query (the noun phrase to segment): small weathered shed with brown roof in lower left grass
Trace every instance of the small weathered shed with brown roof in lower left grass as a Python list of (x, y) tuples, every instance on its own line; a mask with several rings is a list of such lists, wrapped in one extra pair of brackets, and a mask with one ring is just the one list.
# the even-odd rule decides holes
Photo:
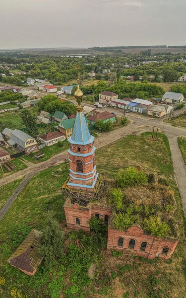
[(24, 241), (12, 253), (7, 262), (25, 274), (33, 276), (43, 260), (43, 256), (38, 253), (40, 239), (41, 232), (32, 229)]

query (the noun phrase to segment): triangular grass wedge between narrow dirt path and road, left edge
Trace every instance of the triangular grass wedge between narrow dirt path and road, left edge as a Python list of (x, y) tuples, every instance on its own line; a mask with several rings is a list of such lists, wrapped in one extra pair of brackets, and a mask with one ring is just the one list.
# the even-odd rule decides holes
[(23, 178), (17, 179), (0, 187), (0, 209), (4, 206), (22, 179)]

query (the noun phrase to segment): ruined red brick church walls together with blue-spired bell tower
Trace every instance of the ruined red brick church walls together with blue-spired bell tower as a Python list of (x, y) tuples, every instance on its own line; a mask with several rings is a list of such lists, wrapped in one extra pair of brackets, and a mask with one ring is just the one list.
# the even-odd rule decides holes
[(104, 177), (96, 170), (94, 137), (90, 135), (82, 111), (82, 91), (74, 94), (78, 106), (72, 136), (68, 139), (69, 177), (62, 186), (67, 193), (64, 211), (69, 229), (90, 230), (92, 217), (108, 224), (107, 249), (125, 251), (137, 256), (154, 259), (169, 259), (178, 240), (163, 239), (145, 233), (138, 224), (133, 224), (126, 231), (116, 229), (112, 222), (112, 207), (104, 198)]

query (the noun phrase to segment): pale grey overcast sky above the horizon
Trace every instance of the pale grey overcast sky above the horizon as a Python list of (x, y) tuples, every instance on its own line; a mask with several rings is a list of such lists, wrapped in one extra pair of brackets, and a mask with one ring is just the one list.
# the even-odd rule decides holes
[(186, 0), (0, 0), (0, 49), (186, 45)]

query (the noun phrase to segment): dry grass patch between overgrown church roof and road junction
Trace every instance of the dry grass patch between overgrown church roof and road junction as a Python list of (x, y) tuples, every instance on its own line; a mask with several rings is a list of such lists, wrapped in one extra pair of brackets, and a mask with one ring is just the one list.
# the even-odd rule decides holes
[(97, 150), (96, 163), (106, 175), (128, 166), (165, 175), (173, 173), (171, 151), (164, 134), (158, 134), (157, 140), (151, 138), (151, 133), (128, 135)]

